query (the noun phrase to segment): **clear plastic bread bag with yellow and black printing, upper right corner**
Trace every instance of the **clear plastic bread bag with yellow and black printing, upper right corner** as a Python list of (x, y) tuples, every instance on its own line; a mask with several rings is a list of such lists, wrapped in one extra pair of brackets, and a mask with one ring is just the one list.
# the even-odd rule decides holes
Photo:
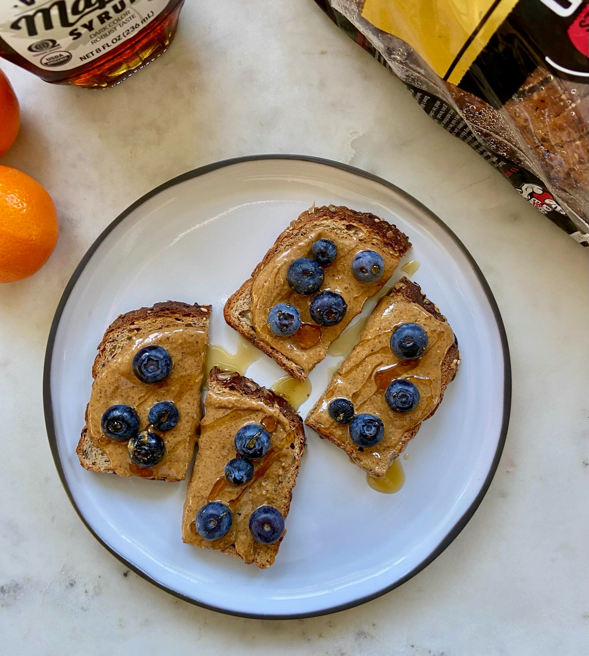
[(573, 239), (589, 246), (584, 0), (315, 0)]

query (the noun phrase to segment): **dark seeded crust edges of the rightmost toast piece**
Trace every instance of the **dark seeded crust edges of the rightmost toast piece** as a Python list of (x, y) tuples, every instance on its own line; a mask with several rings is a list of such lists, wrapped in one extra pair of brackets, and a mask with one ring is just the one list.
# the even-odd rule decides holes
[[(410, 303), (416, 303), (425, 310), (427, 310), (434, 318), (436, 318), (438, 321), (443, 321), (444, 323), (448, 323), (447, 319), (441, 312), (439, 311), (439, 308), (435, 303), (432, 303), (432, 301), (429, 298), (426, 298), (426, 295), (422, 293), (421, 287), (417, 284), (412, 282), (411, 280), (407, 279), (406, 277), (402, 277), (399, 282), (396, 283), (396, 285), (391, 289), (391, 291), (388, 294), (389, 296), (400, 296), (404, 300), (407, 300)], [(432, 415), (436, 412), (436, 410), (439, 408), (439, 404), (441, 403), (441, 400), (444, 396), (444, 391), (446, 389), (446, 386), (454, 380), (457, 371), (458, 371), (458, 364), (460, 364), (460, 353), (458, 352), (458, 344), (455, 342), (450, 346), (450, 348), (447, 350), (445, 357), (441, 363), (441, 391), (439, 394), (439, 402), (437, 403), (436, 407), (430, 412), (430, 414), (425, 417), (422, 421), (425, 421), (426, 419), (430, 419)], [(337, 375), (337, 372), (335, 373), (334, 377)], [(315, 408), (319, 406), (319, 403), (321, 403), (323, 397), (317, 401), (315, 404), (315, 407), (312, 409), (312, 411), (309, 413), (307, 419), (305, 419), (305, 424), (312, 428), (315, 432), (319, 434), (319, 436), (323, 438), (327, 438), (327, 440), (332, 441), (336, 446), (340, 447), (340, 449), (343, 449), (350, 457), (352, 455), (355, 455), (357, 457), (357, 452), (356, 449), (348, 443), (346, 440), (345, 442), (340, 442), (339, 440), (334, 440), (332, 436), (330, 436), (325, 428), (323, 426), (320, 426), (315, 422), (311, 415), (314, 413)], [(419, 422), (413, 428), (410, 428), (407, 430), (404, 434), (403, 437), (401, 438), (401, 441), (399, 443), (399, 453), (403, 452), (403, 449), (405, 449), (405, 446), (407, 446), (407, 443), (409, 441), (413, 440), (415, 438), (422, 422)], [(371, 474), (371, 476), (375, 476), (378, 478), (379, 476), (384, 476), (384, 474), (378, 474), (377, 472), (371, 470), (369, 467), (363, 469), (368, 473)], [(385, 472), (386, 473), (386, 472)]]

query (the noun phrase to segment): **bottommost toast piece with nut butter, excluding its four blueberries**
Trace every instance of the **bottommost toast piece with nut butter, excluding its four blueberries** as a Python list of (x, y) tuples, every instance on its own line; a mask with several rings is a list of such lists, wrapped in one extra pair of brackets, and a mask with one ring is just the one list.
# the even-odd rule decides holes
[[(208, 384), (198, 455), (184, 503), (182, 540), (237, 556), (260, 568), (270, 567), (283, 537), (274, 544), (254, 541), (249, 518), (262, 505), (274, 506), (286, 518), (305, 447), (302, 419), (288, 401), (238, 373), (213, 367)], [(236, 486), (226, 482), (224, 468), (237, 455), (235, 433), (252, 423), (268, 430), (270, 450), (253, 461), (253, 478)], [(224, 537), (209, 541), (197, 533), (195, 518), (211, 501), (231, 509), (232, 527)]]

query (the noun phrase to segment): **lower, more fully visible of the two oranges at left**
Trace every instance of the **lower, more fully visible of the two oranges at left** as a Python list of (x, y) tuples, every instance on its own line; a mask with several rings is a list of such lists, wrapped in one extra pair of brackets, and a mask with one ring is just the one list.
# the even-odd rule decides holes
[(51, 196), (26, 173), (0, 166), (0, 283), (38, 271), (53, 252), (58, 234)]

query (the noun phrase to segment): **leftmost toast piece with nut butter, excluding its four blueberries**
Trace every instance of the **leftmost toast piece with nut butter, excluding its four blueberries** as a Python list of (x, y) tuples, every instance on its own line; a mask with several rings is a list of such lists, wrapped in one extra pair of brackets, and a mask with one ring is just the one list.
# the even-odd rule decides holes
[[(186, 477), (202, 416), (201, 385), (210, 316), (210, 305), (169, 300), (121, 314), (113, 321), (92, 365), (92, 395), (76, 449), (83, 467), (165, 481)], [(132, 356), (146, 343), (161, 344), (172, 356), (172, 372), (161, 382), (146, 384), (132, 373)], [(127, 441), (112, 441), (102, 434), (100, 419), (108, 407), (131, 405), (140, 418), (139, 430), (144, 430), (149, 426), (148, 412), (153, 403), (170, 400), (178, 408), (179, 419), (174, 428), (159, 433), (165, 455), (157, 465), (137, 467), (129, 461)]]

